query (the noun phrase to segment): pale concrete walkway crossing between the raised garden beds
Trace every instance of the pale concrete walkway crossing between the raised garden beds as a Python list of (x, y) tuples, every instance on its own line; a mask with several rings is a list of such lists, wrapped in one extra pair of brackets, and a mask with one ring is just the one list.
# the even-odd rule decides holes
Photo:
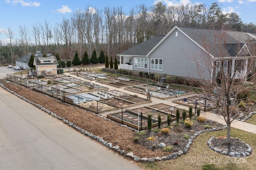
[[(69, 73), (64, 73), (64, 74), (69, 75)], [(70, 75), (70, 76), (76, 77), (76, 78), (81, 79), (81, 80), (84, 81), (84, 79), (82, 77), (77, 77), (76, 75)], [(89, 80), (86, 80), (86, 81), (89, 81)], [(94, 84), (102, 85), (104, 87), (108, 87), (109, 89), (115, 89), (115, 90), (118, 90), (118, 91), (122, 91), (124, 93), (129, 93), (131, 95), (138, 95), (138, 97), (142, 97), (142, 98), (146, 99), (146, 95), (140, 94), (140, 93), (135, 93), (133, 91), (125, 90), (124, 87), (120, 87), (120, 88), (113, 87), (113, 86), (110, 86), (110, 85), (106, 85), (106, 84), (103, 84), (103, 83), (96, 82), (96, 80), (92, 80), (91, 82), (94, 83)], [(194, 95), (196, 95), (196, 94), (186, 95), (186, 97), (191, 97), (191, 96), (194, 96)], [(155, 98), (154, 96), (152, 96), (151, 97), (152, 103), (148, 103), (147, 105), (155, 105), (155, 104), (158, 104), (158, 103), (163, 103), (163, 104), (166, 104), (166, 105), (178, 107), (179, 109), (186, 109), (188, 111), (187, 106), (179, 105), (177, 103), (172, 102), (173, 100), (182, 99), (184, 97), (185, 96), (174, 97), (174, 98), (171, 98), (171, 99), (162, 100), (162, 99), (158, 99), (158, 98)], [(194, 109), (193, 109), (193, 113), (194, 113)], [(201, 111), (200, 115), (205, 117), (206, 119), (213, 120), (213, 121), (216, 121), (218, 123), (222, 123), (223, 125), (226, 125), (223, 117), (221, 117), (220, 115), (210, 113), (210, 112), (204, 112), (204, 111)], [(252, 132), (252, 133), (256, 134), (256, 125), (252, 125), (250, 123), (234, 120), (231, 123), (231, 127), (238, 128), (238, 129), (241, 129), (241, 130), (244, 130), (244, 131), (247, 131), (247, 132)]]

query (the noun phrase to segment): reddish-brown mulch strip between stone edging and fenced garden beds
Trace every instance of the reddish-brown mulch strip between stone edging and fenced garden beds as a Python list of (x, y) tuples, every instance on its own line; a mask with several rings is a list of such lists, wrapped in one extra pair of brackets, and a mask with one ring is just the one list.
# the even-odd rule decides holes
[[(148, 132), (146, 130), (147, 134), (140, 136), (140, 140), (138, 141), (140, 144), (138, 144), (133, 140), (134, 136), (137, 136), (136, 132), (131, 131), (128, 128), (121, 127), (118, 123), (102, 119), (78, 107), (66, 105), (56, 99), (34, 92), (31, 89), (26, 89), (25, 87), (12, 83), (3, 83), (11, 91), (14, 91), (34, 103), (42, 105), (44, 108), (49, 109), (68, 121), (71, 121), (78, 127), (87, 130), (96, 136), (102, 137), (105, 141), (111, 142), (113, 145), (120, 146), (120, 149), (124, 149), (127, 152), (133, 152), (134, 155), (139, 156), (140, 158), (168, 156), (170, 153), (164, 152), (162, 149), (158, 148), (158, 144), (160, 142), (166, 143), (167, 146), (174, 145), (174, 142), (178, 142), (174, 145), (174, 151), (180, 150), (184, 149), (187, 143), (187, 140), (184, 140), (183, 138), (184, 134), (191, 136), (195, 131), (204, 130), (205, 125), (209, 125), (211, 127), (222, 127), (222, 125), (212, 121), (206, 121), (205, 123), (196, 122), (192, 128), (185, 128), (184, 124), (180, 123), (179, 127), (173, 125), (172, 128), (170, 128), (171, 132), (167, 135), (161, 134), (160, 132)], [(156, 136), (156, 141), (150, 142), (147, 140), (148, 136)]]

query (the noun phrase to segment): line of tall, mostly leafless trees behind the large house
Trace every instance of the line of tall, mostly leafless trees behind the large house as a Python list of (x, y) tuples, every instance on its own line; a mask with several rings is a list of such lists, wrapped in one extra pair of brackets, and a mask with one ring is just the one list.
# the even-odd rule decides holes
[(243, 23), (236, 13), (224, 14), (217, 2), (209, 7), (191, 3), (166, 6), (158, 2), (150, 7), (140, 4), (128, 12), (122, 6), (103, 9), (86, 6), (55, 26), (47, 20), (33, 23), (31, 30), (26, 25), (19, 26), (15, 39), (12, 28), (7, 28), (5, 33), (10, 41), (6, 45), (0, 42), (0, 65), (14, 64), (18, 57), (34, 51), (53, 55), (58, 52), (65, 61), (72, 60), (76, 51), (80, 58), (84, 51), (92, 56), (94, 49), (116, 56), (153, 36), (166, 35), (177, 25), (256, 33), (254, 24)]

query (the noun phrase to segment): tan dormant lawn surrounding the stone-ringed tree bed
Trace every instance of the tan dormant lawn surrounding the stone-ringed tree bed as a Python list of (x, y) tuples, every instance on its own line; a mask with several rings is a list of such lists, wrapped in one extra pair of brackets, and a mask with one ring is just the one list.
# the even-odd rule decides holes
[(213, 150), (207, 147), (206, 142), (210, 137), (223, 136), (226, 135), (226, 132), (226, 130), (221, 130), (200, 134), (200, 136), (198, 136), (192, 143), (189, 152), (175, 160), (166, 160), (153, 163), (140, 162), (138, 165), (145, 170), (255, 170), (256, 155), (254, 154), (254, 150), (256, 148), (256, 134), (245, 132), (236, 128), (231, 129), (232, 137), (238, 137), (252, 147), (252, 155), (246, 158), (224, 156), (222, 154), (215, 153)]

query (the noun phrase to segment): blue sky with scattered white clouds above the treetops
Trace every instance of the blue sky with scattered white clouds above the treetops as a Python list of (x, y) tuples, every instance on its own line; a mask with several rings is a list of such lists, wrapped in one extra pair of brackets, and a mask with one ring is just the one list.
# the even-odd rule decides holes
[(27, 26), (31, 30), (36, 23), (49, 22), (52, 28), (63, 17), (70, 16), (78, 9), (87, 6), (103, 9), (104, 6), (122, 6), (125, 12), (139, 4), (150, 7), (162, 1), (166, 6), (187, 3), (203, 3), (209, 7), (218, 2), (222, 12), (239, 14), (243, 23), (256, 24), (256, 0), (0, 0), (0, 40), (9, 42), (4, 30), (10, 27), (14, 32), (14, 40), (19, 38), (19, 26)]

